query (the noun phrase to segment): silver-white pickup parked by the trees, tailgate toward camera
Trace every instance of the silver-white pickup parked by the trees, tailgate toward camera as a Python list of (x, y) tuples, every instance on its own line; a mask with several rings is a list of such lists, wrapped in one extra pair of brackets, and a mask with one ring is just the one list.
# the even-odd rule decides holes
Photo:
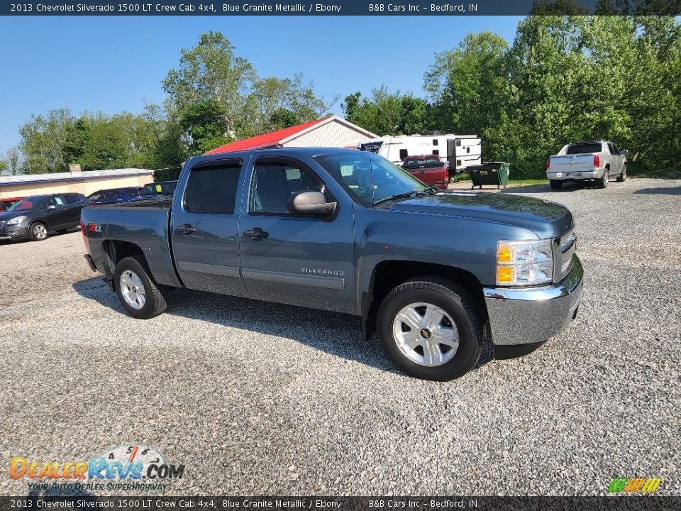
[(626, 153), (608, 141), (569, 143), (546, 160), (546, 177), (553, 189), (577, 181), (595, 181), (605, 188), (611, 177), (626, 180)]

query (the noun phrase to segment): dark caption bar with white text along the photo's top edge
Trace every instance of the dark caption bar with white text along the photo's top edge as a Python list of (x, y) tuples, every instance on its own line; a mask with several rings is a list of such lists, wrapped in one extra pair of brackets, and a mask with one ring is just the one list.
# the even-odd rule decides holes
[(615, 14), (677, 16), (681, 0), (26, 0), (2, 16), (526, 16)]

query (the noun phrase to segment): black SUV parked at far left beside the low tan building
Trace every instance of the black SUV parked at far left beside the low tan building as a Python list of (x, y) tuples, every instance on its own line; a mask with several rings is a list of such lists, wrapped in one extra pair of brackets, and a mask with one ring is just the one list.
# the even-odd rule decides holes
[(0, 241), (28, 238), (42, 241), (50, 231), (64, 233), (80, 223), (80, 210), (89, 204), (83, 194), (25, 197), (0, 213)]

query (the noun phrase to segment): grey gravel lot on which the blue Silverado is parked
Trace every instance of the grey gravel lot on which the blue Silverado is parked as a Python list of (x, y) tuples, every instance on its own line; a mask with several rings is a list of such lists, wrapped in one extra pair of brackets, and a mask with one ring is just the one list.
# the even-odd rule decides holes
[(177, 291), (132, 319), (78, 232), (0, 245), (0, 493), (26, 494), (11, 456), (143, 442), (187, 467), (169, 495), (599, 495), (633, 476), (681, 495), (681, 181), (509, 192), (575, 214), (580, 314), (450, 383), (393, 370), (342, 314)]

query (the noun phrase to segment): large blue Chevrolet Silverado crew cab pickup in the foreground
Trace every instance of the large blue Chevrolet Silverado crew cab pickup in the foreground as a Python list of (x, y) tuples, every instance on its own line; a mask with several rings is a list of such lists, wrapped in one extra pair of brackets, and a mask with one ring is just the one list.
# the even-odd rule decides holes
[(431, 380), (465, 374), (490, 335), (497, 358), (532, 351), (582, 293), (565, 207), (438, 192), (358, 150), (189, 158), (172, 199), (86, 207), (81, 229), (135, 318), (182, 287), (355, 314), (395, 366)]

